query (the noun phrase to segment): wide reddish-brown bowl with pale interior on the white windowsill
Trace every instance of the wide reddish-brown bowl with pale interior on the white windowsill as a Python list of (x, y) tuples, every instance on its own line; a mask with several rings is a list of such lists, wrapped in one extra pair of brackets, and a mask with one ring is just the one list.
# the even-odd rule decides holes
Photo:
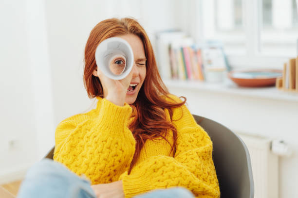
[(228, 73), (228, 77), (244, 87), (262, 87), (275, 85), (276, 78), (282, 77), (280, 69), (245, 69), (234, 70)]

